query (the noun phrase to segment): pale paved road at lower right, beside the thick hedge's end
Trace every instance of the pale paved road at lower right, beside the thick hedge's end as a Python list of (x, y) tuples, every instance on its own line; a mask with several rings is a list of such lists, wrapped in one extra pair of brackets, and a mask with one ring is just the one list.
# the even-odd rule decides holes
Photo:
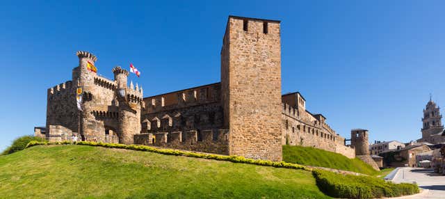
[(416, 182), (419, 187), (426, 189), (419, 196), (407, 198), (445, 198), (445, 176), (437, 175), (426, 168), (401, 168), (393, 182)]

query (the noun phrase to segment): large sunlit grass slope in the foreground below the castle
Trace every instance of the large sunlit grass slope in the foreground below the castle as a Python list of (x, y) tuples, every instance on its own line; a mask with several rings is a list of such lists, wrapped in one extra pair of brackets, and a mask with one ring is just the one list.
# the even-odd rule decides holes
[(329, 198), (305, 170), (81, 145), (0, 156), (1, 198)]

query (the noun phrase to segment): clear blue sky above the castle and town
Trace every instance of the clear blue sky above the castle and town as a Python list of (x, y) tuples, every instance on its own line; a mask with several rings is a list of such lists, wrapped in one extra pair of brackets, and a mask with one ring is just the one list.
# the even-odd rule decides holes
[[(0, 150), (44, 126), (47, 88), (77, 50), (99, 74), (132, 62), (145, 96), (220, 81), (228, 15), (282, 21), (282, 93), (300, 91), (342, 136), (421, 136), (429, 93), (445, 106), (445, 1), (0, 3)], [(444, 114), (444, 111), (441, 111)]]

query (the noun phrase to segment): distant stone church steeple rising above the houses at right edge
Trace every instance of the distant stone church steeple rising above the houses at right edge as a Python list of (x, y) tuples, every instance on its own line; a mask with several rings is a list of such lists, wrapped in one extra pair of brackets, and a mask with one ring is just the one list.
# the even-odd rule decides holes
[(444, 125), (442, 125), (440, 107), (431, 100), (431, 97), (430, 101), (426, 104), (426, 109), (423, 109), (422, 122), (422, 138), (417, 140), (418, 143), (445, 143), (445, 132)]

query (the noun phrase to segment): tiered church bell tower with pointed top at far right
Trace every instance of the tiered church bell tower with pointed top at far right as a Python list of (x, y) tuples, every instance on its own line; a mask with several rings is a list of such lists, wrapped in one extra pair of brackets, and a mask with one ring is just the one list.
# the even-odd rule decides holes
[[(426, 104), (426, 109), (423, 109), (423, 127), (422, 139), (424, 141), (429, 141), (428, 138), (434, 134), (439, 134), (444, 131), (444, 126), (442, 125), (442, 115), (440, 114), (440, 107), (437, 106), (435, 102), (431, 100)], [(430, 141), (432, 142), (432, 141)]]

